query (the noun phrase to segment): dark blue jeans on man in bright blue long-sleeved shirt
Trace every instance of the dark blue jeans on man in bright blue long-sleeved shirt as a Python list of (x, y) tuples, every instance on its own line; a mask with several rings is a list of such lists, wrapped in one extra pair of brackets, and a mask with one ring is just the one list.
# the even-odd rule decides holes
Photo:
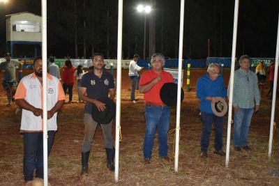
[(209, 139), (211, 133), (211, 125), (214, 123), (215, 139), (214, 147), (216, 150), (222, 150), (223, 148), (223, 127), (224, 127), (224, 116), (218, 117), (214, 114), (206, 113), (202, 111), (202, 138), (201, 138), (201, 150), (206, 153), (209, 148)]

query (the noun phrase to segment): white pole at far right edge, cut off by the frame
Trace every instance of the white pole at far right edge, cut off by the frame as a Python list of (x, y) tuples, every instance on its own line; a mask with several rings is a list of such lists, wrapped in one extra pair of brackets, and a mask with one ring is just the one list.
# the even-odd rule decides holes
[(276, 45), (276, 59), (275, 59), (275, 71), (273, 80), (273, 94), (272, 94), (272, 107), (271, 107), (271, 126), (269, 132), (269, 160), (271, 158), (272, 141), (273, 141), (273, 122), (274, 112), (276, 106), (276, 91), (277, 91), (277, 77), (278, 77), (278, 60), (279, 60), (279, 17), (278, 17), (278, 29), (277, 29), (277, 45)]

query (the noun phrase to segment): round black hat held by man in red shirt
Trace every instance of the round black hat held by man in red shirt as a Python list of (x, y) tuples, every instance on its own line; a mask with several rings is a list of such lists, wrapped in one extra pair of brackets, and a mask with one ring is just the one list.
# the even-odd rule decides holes
[[(167, 106), (175, 106), (177, 103), (177, 84), (165, 83), (160, 89), (160, 98)], [(184, 91), (181, 88), (181, 102), (184, 99)]]

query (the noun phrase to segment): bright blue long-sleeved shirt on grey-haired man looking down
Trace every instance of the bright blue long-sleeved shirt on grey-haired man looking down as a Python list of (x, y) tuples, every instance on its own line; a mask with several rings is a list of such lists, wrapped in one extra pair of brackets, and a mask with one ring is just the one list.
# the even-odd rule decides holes
[(197, 98), (199, 98), (199, 110), (213, 114), (211, 109), (211, 101), (206, 100), (206, 97), (222, 97), (226, 98), (227, 92), (222, 76), (217, 77), (214, 81), (206, 74), (197, 79)]

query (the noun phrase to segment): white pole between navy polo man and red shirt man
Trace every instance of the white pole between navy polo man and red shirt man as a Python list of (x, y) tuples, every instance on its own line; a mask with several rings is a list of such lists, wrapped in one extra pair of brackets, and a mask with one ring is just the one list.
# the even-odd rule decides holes
[(118, 4), (118, 36), (117, 36), (117, 77), (116, 77), (116, 127), (115, 127), (115, 171), (114, 179), (119, 180), (119, 131), (121, 114), (121, 59), (122, 59), (122, 18), (123, 0)]

